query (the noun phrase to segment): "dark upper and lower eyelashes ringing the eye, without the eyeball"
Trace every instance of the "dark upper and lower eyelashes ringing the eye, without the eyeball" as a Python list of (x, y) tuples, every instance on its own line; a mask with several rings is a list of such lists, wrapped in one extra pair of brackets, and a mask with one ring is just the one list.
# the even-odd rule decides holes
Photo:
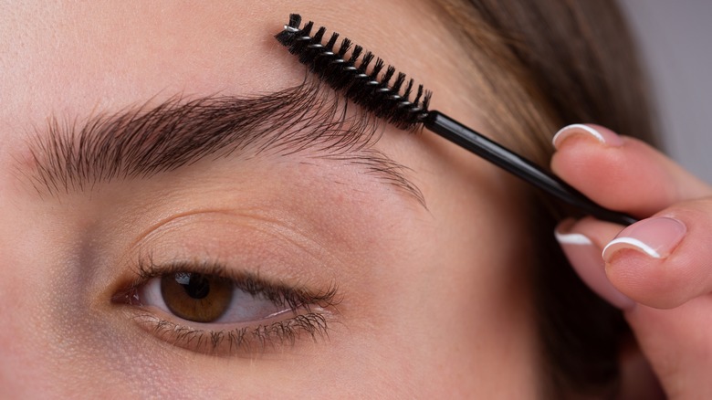
[[(330, 311), (336, 310), (340, 303), (335, 285), (324, 291), (295, 288), (281, 282), (261, 279), (254, 274), (236, 273), (217, 263), (178, 262), (158, 265), (148, 258), (140, 260), (135, 269), (138, 278), (128, 289), (122, 289), (114, 295), (112, 301), (133, 307), (134, 320), (156, 337), (198, 353), (263, 353), (267, 348), (275, 348), (278, 345), (292, 346), (305, 334), (313, 342), (319, 342), (329, 337), (327, 322), (330, 320)], [(261, 296), (277, 307), (285, 307), (291, 311), (292, 316), (286, 320), (266, 323), (267, 320), (250, 321), (246, 322), (249, 326), (214, 331), (190, 326), (197, 322), (185, 321), (177, 316), (172, 317), (181, 322), (170, 321), (148, 311), (144, 304), (141, 304), (141, 287), (150, 279), (179, 272), (231, 279), (235, 289), (244, 290), (252, 296)]]

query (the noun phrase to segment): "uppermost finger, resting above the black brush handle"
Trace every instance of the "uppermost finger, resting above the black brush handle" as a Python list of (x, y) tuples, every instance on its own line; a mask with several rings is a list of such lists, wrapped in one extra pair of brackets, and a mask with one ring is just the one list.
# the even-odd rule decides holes
[(551, 168), (605, 207), (635, 216), (686, 199), (712, 195), (709, 185), (633, 138), (597, 125), (570, 125), (553, 139)]

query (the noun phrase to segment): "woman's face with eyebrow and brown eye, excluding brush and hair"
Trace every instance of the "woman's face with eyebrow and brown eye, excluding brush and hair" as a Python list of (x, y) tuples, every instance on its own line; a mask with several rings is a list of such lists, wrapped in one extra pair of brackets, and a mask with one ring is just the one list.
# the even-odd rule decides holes
[[(332, 129), (297, 149), (323, 126), (257, 114), (275, 97), (256, 96), (304, 80), (273, 37), (298, 12), (477, 126), (471, 71), (433, 7), (0, 6), (4, 394), (535, 393), (509, 178), (429, 132), (380, 126), (338, 151), (354, 133)], [(200, 157), (202, 131), (218, 145)]]

